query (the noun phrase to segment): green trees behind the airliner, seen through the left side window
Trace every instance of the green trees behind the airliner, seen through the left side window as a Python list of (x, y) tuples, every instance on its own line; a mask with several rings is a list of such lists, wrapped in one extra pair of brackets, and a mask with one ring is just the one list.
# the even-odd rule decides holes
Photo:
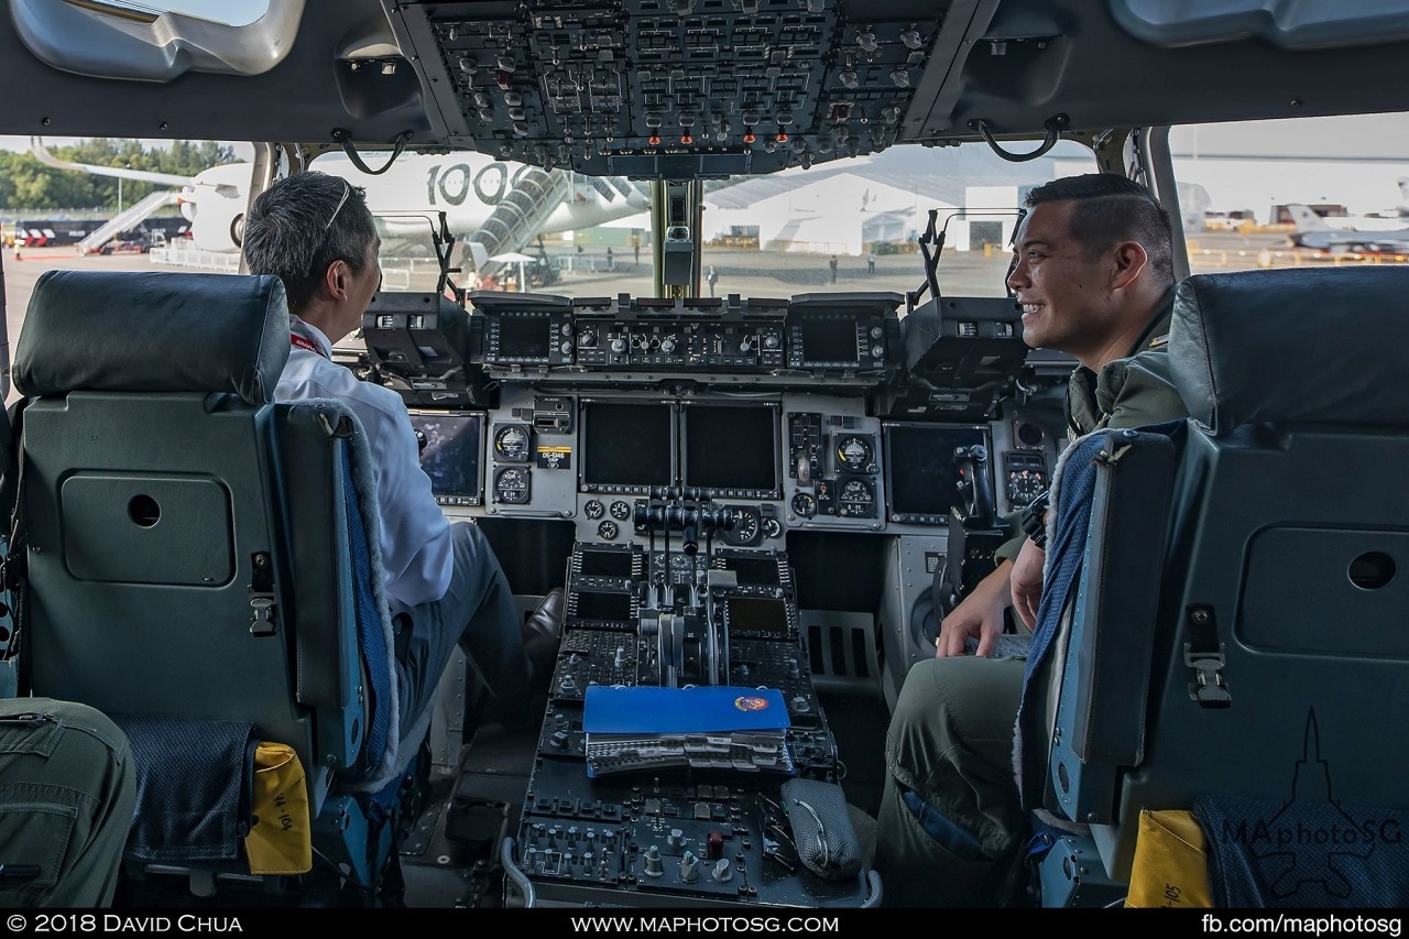
[[(235, 162), (232, 147), (216, 141), (175, 141), (170, 147), (142, 147), (137, 140), (99, 137), (72, 147), (51, 147), (59, 159), (100, 166), (194, 176), (218, 164)], [(131, 206), (159, 183), (121, 180), (123, 204)], [(45, 166), (34, 154), (0, 151), (0, 210), (4, 209), (101, 209), (116, 211), (118, 180), (72, 169)]]

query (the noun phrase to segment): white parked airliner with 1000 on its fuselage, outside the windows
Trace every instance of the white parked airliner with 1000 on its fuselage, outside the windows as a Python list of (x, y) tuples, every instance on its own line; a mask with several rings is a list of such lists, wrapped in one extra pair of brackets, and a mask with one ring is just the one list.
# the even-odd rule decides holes
[[(31, 138), (30, 149), (41, 162), (58, 169), (180, 186), (182, 213), (190, 221), (196, 247), (220, 252), (240, 250), (244, 211), (249, 199), (249, 164), (225, 164), (196, 176), (179, 176), (59, 159), (37, 137)], [(327, 154), (314, 168), (364, 186), (368, 206), (383, 219), (392, 234), (421, 235), (424, 221), (407, 219), (444, 211), (451, 234), (462, 241), (478, 233), (511, 199), (526, 176), (544, 175), (526, 164), (465, 152), (403, 152), (385, 172), (378, 166), (376, 175), (362, 172), (342, 154)], [(540, 234), (589, 228), (640, 214), (650, 207), (641, 188), (620, 178), (590, 185), (571, 172), (551, 171), (548, 182), (558, 199), (557, 207), (540, 226), (524, 230), (514, 243), (495, 244), (486, 254), (513, 251)], [(504, 214), (510, 221), (517, 220), (517, 213), (510, 209)]]

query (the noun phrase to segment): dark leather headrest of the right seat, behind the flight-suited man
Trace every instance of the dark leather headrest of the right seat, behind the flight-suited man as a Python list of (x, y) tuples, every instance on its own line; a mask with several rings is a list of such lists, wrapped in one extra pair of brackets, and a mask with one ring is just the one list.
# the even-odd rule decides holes
[(1248, 423), (1409, 424), (1409, 268), (1199, 274), (1179, 285), (1169, 368), (1209, 433)]

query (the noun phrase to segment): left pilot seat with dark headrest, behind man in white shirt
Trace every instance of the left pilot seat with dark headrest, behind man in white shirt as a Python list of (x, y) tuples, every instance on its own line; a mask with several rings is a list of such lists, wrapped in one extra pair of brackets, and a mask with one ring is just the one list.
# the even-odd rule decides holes
[[(20, 694), (132, 742), (120, 902), (161, 902), (163, 874), (223, 904), (399, 902), (424, 759), (397, 728), (366, 444), (338, 402), (273, 403), (287, 354), (273, 276), (54, 271), (28, 307), (11, 647)], [(304, 843), (256, 863), (273, 825)]]

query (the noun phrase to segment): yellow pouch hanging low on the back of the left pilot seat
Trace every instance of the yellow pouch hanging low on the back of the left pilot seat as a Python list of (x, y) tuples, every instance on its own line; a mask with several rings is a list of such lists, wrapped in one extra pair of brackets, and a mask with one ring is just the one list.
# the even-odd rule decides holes
[(285, 743), (255, 750), (254, 825), (245, 836), (251, 874), (304, 874), (313, 869), (313, 826), (303, 764)]

